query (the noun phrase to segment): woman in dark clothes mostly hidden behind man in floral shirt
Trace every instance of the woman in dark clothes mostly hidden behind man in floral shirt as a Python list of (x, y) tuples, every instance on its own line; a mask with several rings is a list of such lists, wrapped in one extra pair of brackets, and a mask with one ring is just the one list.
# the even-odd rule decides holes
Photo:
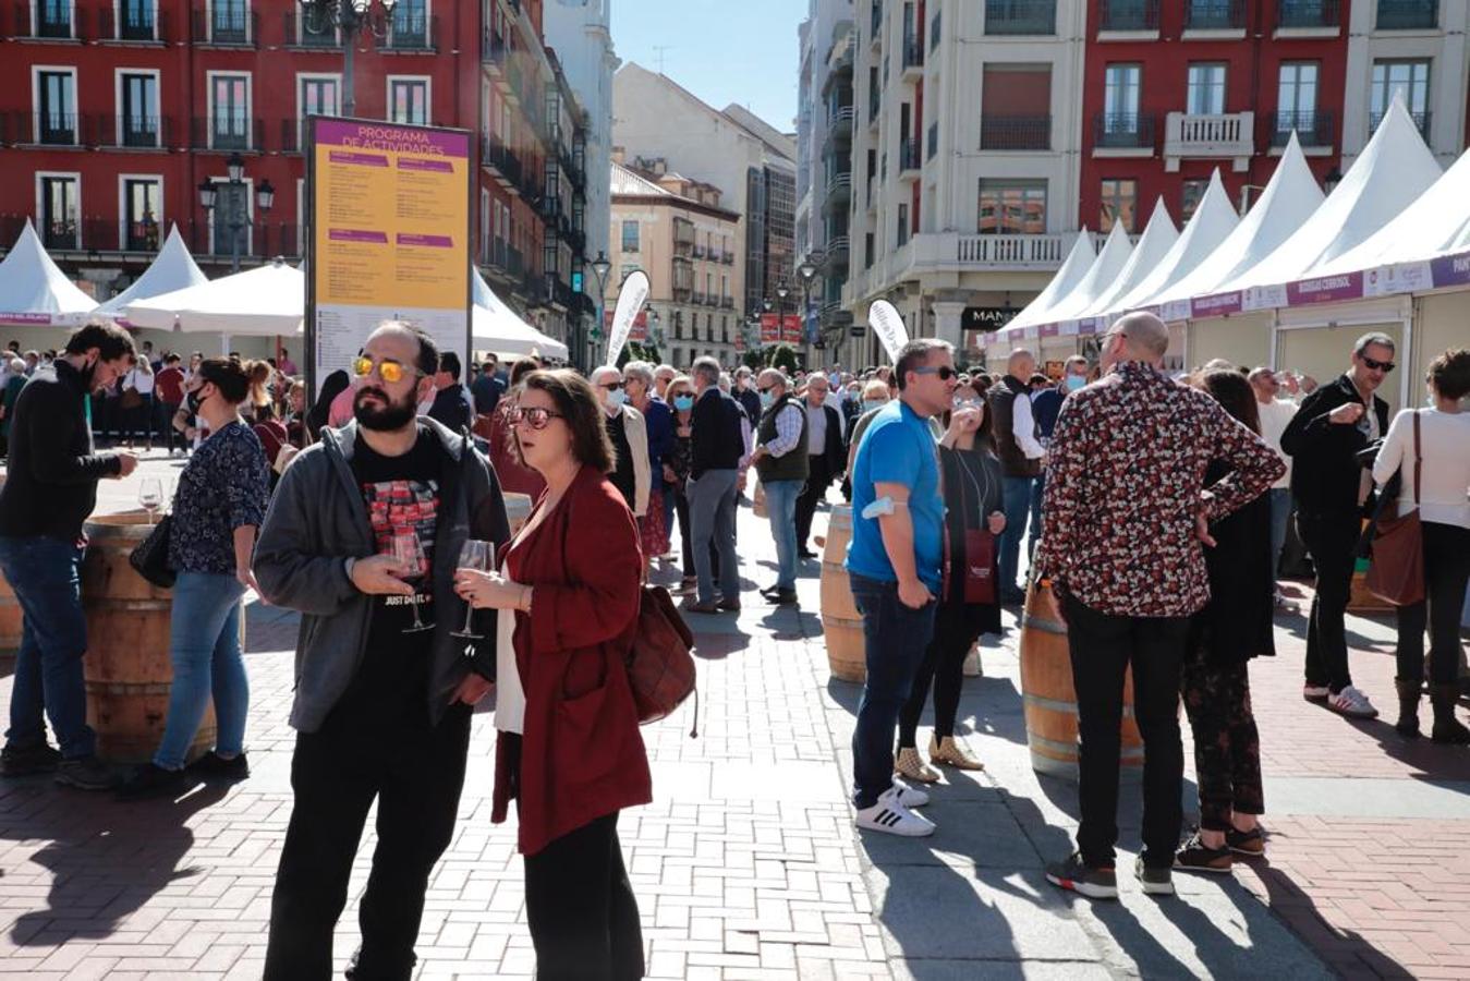
[[(1195, 384), (1225, 410), (1261, 431), (1251, 384), (1236, 371), (1210, 371)], [(1213, 463), (1205, 482), (1229, 472)], [(1229, 872), (1232, 853), (1261, 855), (1266, 838), (1257, 816), (1261, 793), (1261, 749), (1251, 713), (1251, 657), (1276, 653), (1272, 635), (1276, 577), (1272, 568), (1272, 506), (1261, 494), (1233, 515), (1210, 525), (1205, 547), (1210, 604), (1194, 615), (1182, 677), (1185, 712), (1194, 729), (1195, 777), (1200, 784), (1200, 830), (1175, 859), (1182, 869)]]

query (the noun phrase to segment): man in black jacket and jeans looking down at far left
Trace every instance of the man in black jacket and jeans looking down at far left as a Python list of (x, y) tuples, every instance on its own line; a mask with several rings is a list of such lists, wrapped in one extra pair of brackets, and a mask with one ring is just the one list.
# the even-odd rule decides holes
[[(0, 753), (6, 777), (56, 771), (56, 782), (82, 790), (116, 782), (97, 760), (97, 735), (87, 725), (87, 619), (78, 577), (82, 522), (97, 506), (97, 481), (126, 477), (138, 465), (131, 453), (93, 452), (85, 403), (125, 375), (132, 357), (126, 331), (91, 324), (72, 334), (66, 352), (15, 400), (10, 466), (0, 490), (0, 569), (21, 604), (25, 634)], [(46, 741), (43, 710), (60, 753)]]

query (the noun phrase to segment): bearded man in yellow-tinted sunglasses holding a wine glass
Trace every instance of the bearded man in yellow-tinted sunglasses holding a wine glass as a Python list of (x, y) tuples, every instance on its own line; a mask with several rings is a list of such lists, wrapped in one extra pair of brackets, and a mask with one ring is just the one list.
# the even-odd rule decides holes
[(378, 849), (353, 963), (359, 977), (407, 977), (428, 877), (454, 830), (470, 706), (495, 677), (492, 615), (466, 609), (454, 569), (492, 554), (509, 527), (485, 459), (416, 415), (438, 366), (423, 332), (373, 331), (350, 366), (354, 419), (293, 460), (260, 531), (262, 596), (303, 613), (295, 800), (266, 978), (332, 974), (332, 931), (373, 800)]

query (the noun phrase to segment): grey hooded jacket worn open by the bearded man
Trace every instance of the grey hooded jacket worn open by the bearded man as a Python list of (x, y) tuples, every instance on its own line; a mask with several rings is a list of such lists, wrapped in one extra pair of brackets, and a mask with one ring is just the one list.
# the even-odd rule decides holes
[[(454, 594), (454, 566), (466, 538), (500, 547), (509, 540), (506, 503), (500, 481), (466, 440), (434, 419), (420, 418), (442, 440), (451, 463), (440, 485), (441, 510), (434, 549), (434, 606), (438, 622), (432, 640), (429, 719), (435, 724), (448, 707), (466, 672), (494, 679), (495, 621), (492, 610), (475, 613), (473, 641), (450, 635), (463, 627), (463, 600)], [(254, 572), (268, 603), (301, 612), (295, 644), (295, 700), (291, 725), (315, 732), (347, 691), (368, 644), (372, 597), (347, 578), (344, 560), (376, 552), (368, 507), (351, 471), (357, 424), (322, 429), (322, 441), (291, 460), (270, 499)]]

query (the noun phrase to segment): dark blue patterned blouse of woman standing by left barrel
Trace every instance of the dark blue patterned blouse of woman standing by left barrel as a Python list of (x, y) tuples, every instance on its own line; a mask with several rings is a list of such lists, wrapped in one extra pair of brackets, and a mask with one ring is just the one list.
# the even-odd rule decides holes
[(169, 565), (178, 572), (235, 572), (235, 528), (260, 527), (270, 466), (260, 437), (244, 422), (225, 425), (188, 460), (173, 494)]

